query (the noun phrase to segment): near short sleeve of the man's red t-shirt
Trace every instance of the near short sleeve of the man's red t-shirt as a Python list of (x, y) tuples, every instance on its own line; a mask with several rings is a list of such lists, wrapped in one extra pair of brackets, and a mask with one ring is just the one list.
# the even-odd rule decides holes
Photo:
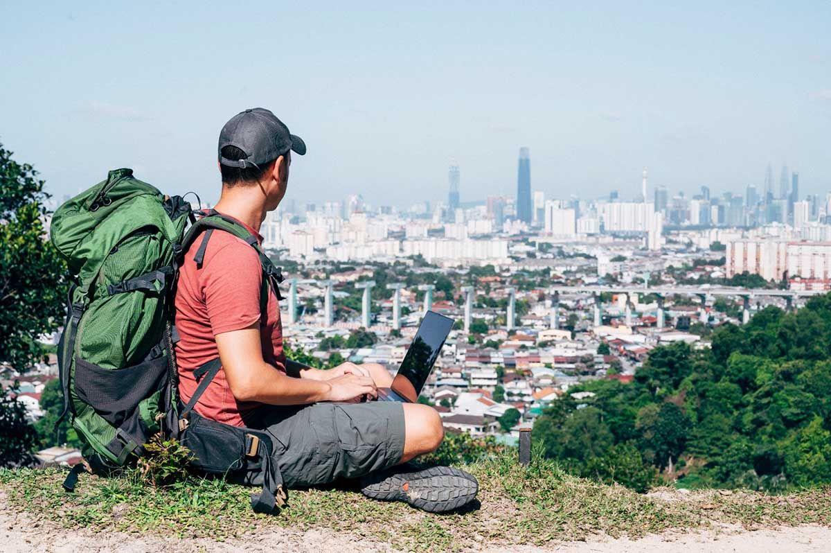
[(205, 255), (202, 287), (214, 336), (260, 320), (262, 284), (262, 266), (248, 244), (221, 244), (212, 256)]

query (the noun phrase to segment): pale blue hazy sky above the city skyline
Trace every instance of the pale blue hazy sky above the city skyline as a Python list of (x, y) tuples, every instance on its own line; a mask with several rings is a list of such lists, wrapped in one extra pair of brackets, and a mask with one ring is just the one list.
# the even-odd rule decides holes
[[(58, 198), (132, 167), (219, 197), (216, 141), (263, 106), (302, 136), (288, 197), (406, 207), (831, 191), (831, 3), (0, 3), (0, 143)], [(585, 6), (578, 6), (585, 4)]]

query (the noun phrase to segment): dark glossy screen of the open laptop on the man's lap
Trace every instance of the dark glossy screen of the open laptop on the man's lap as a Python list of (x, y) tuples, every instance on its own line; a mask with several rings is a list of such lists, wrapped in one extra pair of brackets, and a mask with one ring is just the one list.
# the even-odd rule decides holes
[(416, 402), (421, 388), (433, 370), (433, 363), (439, 357), (441, 347), (445, 345), (447, 335), (453, 328), (453, 319), (428, 311), (407, 350), (401, 367), (392, 380), (392, 391)]

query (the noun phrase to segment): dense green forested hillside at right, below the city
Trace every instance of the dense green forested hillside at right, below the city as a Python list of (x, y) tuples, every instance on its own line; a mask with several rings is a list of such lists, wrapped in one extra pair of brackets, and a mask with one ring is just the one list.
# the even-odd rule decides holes
[[(637, 490), (783, 491), (831, 482), (831, 294), (725, 324), (710, 348), (656, 348), (635, 381), (586, 383), (534, 426), (569, 470)], [(582, 397), (582, 394), (581, 394)]]

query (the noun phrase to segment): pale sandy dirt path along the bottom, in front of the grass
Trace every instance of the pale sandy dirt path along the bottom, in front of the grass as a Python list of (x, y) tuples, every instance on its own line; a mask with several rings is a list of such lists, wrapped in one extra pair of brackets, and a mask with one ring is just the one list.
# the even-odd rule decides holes
[[(227, 542), (178, 540), (165, 536), (138, 536), (90, 531), (67, 531), (32, 521), (21, 513), (9, 512), (0, 501), (0, 551), (3, 553), (347, 553), (349, 551), (392, 551), (390, 546), (355, 536), (327, 531), (297, 532), (273, 529)], [(701, 531), (665, 536), (647, 536), (637, 541), (602, 539), (551, 544), (545, 548), (519, 546), (487, 549), (489, 553), (819, 553), (831, 551), (831, 528), (800, 526), (776, 530)]]

